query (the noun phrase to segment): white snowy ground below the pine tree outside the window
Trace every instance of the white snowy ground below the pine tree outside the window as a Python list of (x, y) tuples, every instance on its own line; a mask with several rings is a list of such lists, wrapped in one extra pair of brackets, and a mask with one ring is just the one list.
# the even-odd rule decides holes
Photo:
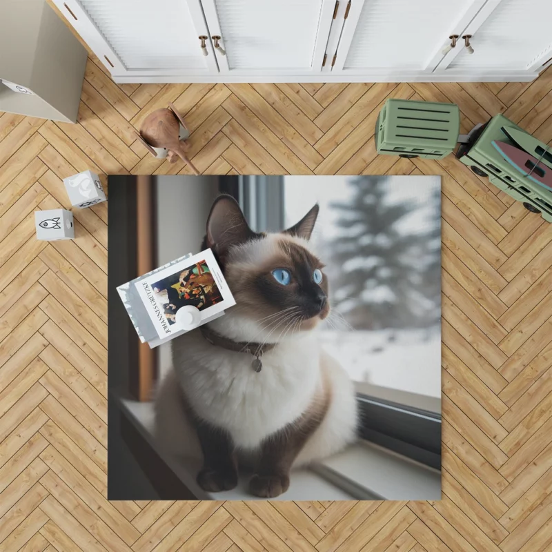
[[(389, 337), (395, 341), (389, 342)], [(423, 331), (333, 331), (324, 349), (357, 382), (441, 397), (441, 336)]]

